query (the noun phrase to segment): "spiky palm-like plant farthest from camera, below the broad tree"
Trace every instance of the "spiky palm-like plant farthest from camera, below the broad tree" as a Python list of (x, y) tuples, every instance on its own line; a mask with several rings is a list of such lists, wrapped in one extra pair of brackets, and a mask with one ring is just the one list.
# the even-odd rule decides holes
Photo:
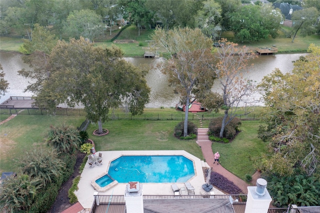
[(72, 153), (80, 144), (79, 132), (70, 126), (50, 126), (47, 144), (58, 153)]

